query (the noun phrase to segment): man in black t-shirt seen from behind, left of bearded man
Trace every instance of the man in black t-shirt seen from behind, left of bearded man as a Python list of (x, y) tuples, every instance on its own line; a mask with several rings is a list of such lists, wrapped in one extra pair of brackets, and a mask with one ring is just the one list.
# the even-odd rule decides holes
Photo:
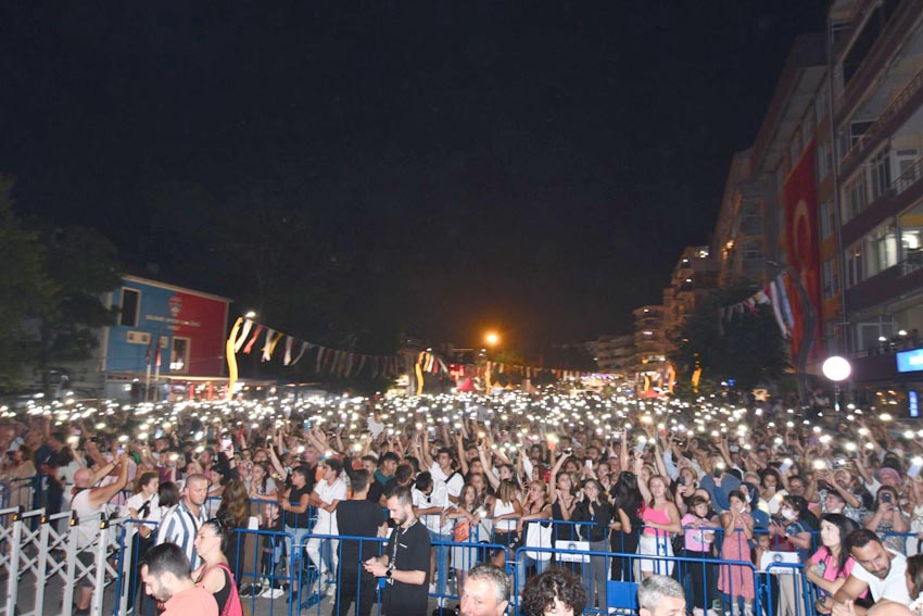
[[(388, 526), (384, 512), (378, 503), (368, 500), (368, 490), (372, 482), (367, 470), (356, 470), (350, 475), (353, 495), (337, 506), (337, 527), (341, 537), (383, 537)], [(355, 599), (358, 616), (368, 616), (375, 602), (375, 576), (363, 569), (359, 564), (377, 556), (377, 541), (340, 540), (339, 586), (333, 599), (333, 616), (345, 614)]]

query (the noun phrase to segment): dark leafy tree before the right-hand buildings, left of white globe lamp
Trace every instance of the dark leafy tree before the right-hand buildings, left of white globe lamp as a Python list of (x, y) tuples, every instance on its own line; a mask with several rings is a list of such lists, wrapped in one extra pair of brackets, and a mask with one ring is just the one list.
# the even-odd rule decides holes
[(718, 309), (753, 294), (746, 286), (719, 289), (705, 298), (683, 323), (677, 351), (670, 359), (680, 382), (688, 382), (697, 367), (703, 381), (734, 380), (749, 391), (757, 385), (777, 381), (788, 367), (784, 339), (772, 309), (757, 305), (719, 323)]

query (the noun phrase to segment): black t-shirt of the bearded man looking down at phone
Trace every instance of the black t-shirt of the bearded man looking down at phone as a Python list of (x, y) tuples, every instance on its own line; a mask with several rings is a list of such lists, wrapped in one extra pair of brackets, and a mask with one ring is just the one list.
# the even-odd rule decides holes
[(397, 571), (423, 571), (421, 584), (408, 584), (392, 580), (384, 587), (382, 607), (387, 616), (428, 616), (427, 593), (429, 592), (429, 532), (417, 520), (407, 529), (395, 528), (385, 546), (389, 566)]

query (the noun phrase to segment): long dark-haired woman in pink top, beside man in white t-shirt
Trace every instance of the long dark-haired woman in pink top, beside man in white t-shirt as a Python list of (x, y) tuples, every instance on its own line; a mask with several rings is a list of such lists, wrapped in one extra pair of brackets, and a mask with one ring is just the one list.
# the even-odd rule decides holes
[[(852, 570), (852, 556), (846, 550), (846, 536), (858, 528), (858, 525), (843, 514), (824, 514), (821, 516), (821, 543), (817, 552), (811, 554), (805, 566), (808, 581), (818, 588), (817, 609), (821, 614), (830, 614), (833, 608), (833, 595), (839, 590)], [(863, 596), (868, 591), (863, 593)]]

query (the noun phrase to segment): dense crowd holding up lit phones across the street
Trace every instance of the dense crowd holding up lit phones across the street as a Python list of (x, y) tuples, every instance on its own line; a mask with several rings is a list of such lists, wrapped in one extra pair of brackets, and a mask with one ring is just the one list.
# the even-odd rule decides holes
[[(772, 401), (552, 391), (75, 404), (5, 414), (0, 470), (31, 490), (8, 504), (139, 520), (136, 553), (175, 546), (159, 557), (181, 554), (222, 609), (294, 592), (274, 581), (291, 557), (334, 614), (353, 600), (368, 614), (380, 578), (385, 614), (423, 613), (488, 562), (516, 571), (523, 601), (538, 575), (577, 571), (586, 608), (606, 613), (609, 580), (668, 576), (696, 616), (750, 616), (769, 558), (802, 564), (812, 607), (845, 616), (923, 591), (923, 430), (887, 408), (808, 418)], [(248, 526), (292, 539), (264, 537), (238, 589)], [(88, 544), (93, 529), (78, 530)], [(163, 601), (159, 570), (132, 583)], [(773, 581), (779, 613), (804, 608), (795, 578)]]

